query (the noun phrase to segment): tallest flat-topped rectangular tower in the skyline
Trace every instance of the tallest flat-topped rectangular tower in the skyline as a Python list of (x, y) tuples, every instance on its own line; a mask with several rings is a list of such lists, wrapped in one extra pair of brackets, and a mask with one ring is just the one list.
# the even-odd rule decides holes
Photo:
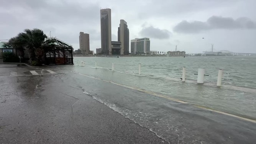
[(102, 53), (111, 55), (111, 9), (100, 10), (100, 30)]

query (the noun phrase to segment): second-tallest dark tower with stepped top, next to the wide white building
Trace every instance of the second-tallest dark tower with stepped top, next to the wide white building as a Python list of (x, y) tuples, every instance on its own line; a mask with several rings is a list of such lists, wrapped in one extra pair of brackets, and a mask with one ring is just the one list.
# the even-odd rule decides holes
[(121, 55), (129, 55), (129, 29), (125, 20), (120, 20), (118, 41), (121, 42)]

